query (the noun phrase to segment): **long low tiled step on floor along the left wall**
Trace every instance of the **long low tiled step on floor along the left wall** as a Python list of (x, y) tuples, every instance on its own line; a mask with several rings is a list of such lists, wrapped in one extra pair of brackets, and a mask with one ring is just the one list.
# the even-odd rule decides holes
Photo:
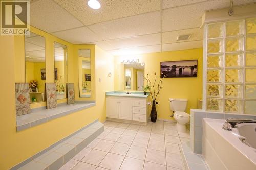
[(78, 154), (91, 141), (104, 131), (104, 125), (95, 122), (76, 133), (53, 144), (48, 149), (32, 156), (31, 161), (24, 165), (17, 165), (11, 170), (56, 170)]

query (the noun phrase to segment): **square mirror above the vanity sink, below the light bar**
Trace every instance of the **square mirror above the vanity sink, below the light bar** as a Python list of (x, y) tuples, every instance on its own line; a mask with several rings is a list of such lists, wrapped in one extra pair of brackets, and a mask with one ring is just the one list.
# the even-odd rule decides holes
[(145, 63), (118, 65), (118, 90), (143, 91)]

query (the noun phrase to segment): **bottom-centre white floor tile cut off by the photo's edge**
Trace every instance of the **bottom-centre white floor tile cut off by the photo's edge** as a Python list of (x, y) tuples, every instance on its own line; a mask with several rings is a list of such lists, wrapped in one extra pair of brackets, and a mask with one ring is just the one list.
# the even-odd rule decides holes
[(143, 160), (125, 157), (120, 170), (142, 170), (144, 165)]

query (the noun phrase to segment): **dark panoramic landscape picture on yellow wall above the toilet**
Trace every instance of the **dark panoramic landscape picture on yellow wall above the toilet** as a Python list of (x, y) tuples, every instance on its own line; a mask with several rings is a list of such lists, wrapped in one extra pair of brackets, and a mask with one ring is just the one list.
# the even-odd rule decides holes
[(161, 77), (164, 75), (166, 75), (166, 78), (197, 77), (197, 64), (197, 60), (160, 62)]

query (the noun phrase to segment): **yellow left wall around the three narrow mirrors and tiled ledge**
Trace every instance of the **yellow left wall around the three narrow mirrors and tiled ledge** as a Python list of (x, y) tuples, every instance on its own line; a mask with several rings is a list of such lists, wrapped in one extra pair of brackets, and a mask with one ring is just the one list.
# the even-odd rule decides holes
[[(0, 85), (0, 93), (5, 96), (0, 99), (1, 170), (13, 167), (96, 119), (104, 121), (106, 118), (105, 92), (114, 90), (114, 77), (108, 77), (108, 72), (114, 72), (114, 59), (110, 54), (95, 45), (73, 45), (32, 26), (30, 29), (46, 37), (47, 82), (54, 82), (54, 41), (68, 47), (68, 82), (75, 83), (76, 92), (78, 92), (78, 57), (74, 49), (91, 48), (93, 56), (91, 75), (96, 78), (93, 78), (92, 90), (97, 89), (96, 97), (94, 94), (96, 106), (16, 132), (15, 82), (25, 82), (24, 37), (0, 36), (0, 79), (4, 82)], [(102, 82), (98, 81), (99, 78), (102, 78)], [(95, 80), (97, 80), (96, 83)], [(77, 94), (76, 99), (78, 99)], [(42, 103), (36, 106), (43, 106)]]

